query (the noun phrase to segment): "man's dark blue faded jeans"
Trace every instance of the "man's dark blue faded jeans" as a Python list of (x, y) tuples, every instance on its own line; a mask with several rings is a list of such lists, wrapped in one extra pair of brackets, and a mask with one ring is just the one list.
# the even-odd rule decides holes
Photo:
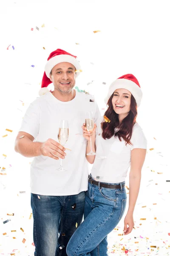
[(66, 256), (69, 239), (82, 222), (85, 191), (78, 195), (31, 194), (34, 256)]

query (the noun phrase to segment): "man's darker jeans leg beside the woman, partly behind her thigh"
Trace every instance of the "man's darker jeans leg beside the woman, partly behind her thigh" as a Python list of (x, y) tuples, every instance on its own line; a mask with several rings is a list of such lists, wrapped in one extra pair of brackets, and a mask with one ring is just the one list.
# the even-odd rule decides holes
[(73, 233), (82, 222), (85, 204), (85, 192), (65, 196), (59, 224), (57, 256), (67, 256), (66, 247)]

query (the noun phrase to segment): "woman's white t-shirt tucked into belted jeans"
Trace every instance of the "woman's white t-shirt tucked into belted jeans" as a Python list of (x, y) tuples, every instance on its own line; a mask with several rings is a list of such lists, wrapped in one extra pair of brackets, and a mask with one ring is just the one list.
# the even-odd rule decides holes
[(130, 166), (131, 150), (147, 148), (147, 140), (138, 123), (133, 126), (130, 142), (133, 145), (126, 145), (125, 140), (120, 141), (118, 137), (114, 136), (104, 140), (102, 130), (99, 128), (96, 133), (96, 157), (91, 170), (92, 177), (106, 183), (125, 181)]

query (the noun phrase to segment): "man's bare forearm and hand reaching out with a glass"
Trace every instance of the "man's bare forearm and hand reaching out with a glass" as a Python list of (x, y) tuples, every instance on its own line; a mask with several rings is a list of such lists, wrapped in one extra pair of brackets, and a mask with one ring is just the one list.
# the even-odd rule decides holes
[(43, 155), (56, 160), (65, 158), (65, 148), (57, 141), (52, 139), (48, 139), (44, 143), (33, 141), (34, 137), (31, 134), (20, 131), (15, 140), (15, 151), (22, 154), (24, 157), (37, 157)]

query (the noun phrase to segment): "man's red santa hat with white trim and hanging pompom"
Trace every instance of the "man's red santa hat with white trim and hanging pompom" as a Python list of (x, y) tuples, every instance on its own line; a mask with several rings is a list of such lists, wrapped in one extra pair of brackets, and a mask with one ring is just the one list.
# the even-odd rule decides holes
[[(40, 96), (49, 91), (46, 87), (48, 86), (48, 84), (52, 83), (50, 80), (50, 72), (55, 65), (61, 62), (69, 62), (75, 67), (76, 70), (81, 70), (79, 61), (77, 60), (77, 56), (74, 56), (69, 52), (65, 52), (62, 49), (57, 49), (54, 52), (51, 52), (47, 59), (47, 63), (45, 64), (45, 72), (42, 77), (41, 83), (42, 89), (39, 91)], [(79, 73), (76, 74), (77, 76), (79, 76)]]

